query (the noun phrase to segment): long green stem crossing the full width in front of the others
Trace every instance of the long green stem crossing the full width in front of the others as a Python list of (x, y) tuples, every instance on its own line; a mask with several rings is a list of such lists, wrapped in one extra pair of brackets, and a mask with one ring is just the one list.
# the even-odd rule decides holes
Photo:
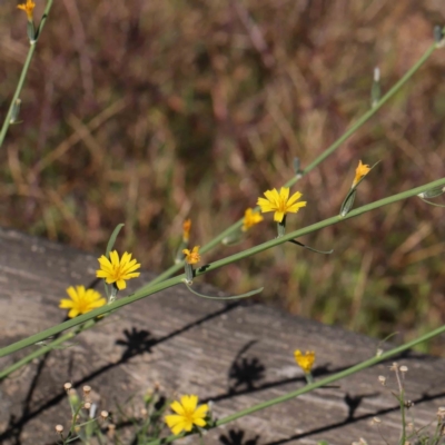
[[(287, 243), (290, 239), (301, 237), (304, 235), (310, 234), (313, 231), (319, 230), (319, 229), (328, 227), (328, 226), (333, 226), (333, 225), (335, 225), (335, 224), (337, 224), (339, 221), (354, 218), (354, 217), (356, 217), (358, 215), (362, 215), (362, 214), (365, 214), (367, 211), (377, 209), (379, 207), (387, 206), (389, 204), (393, 204), (393, 202), (396, 202), (396, 201), (399, 201), (399, 200), (416, 196), (416, 195), (418, 195), (418, 194), (421, 194), (423, 191), (429, 190), (433, 187), (438, 187), (438, 186), (442, 186), (442, 185), (445, 186), (445, 178), (435, 180), (435, 181), (426, 184), (424, 186), (416, 187), (416, 188), (413, 188), (411, 190), (403, 191), (400, 194), (397, 194), (397, 195), (394, 195), (394, 196), (390, 196), (390, 197), (387, 197), (387, 198), (384, 198), (384, 199), (379, 199), (378, 201), (375, 201), (375, 202), (368, 204), (366, 206), (359, 207), (359, 208), (357, 208), (355, 210), (352, 210), (349, 214), (347, 214), (343, 218), (339, 217), (339, 216), (334, 216), (332, 218), (327, 218), (327, 219), (325, 219), (323, 221), (313, 224), (313, 225), (307, 226), (307, 227), (305, 227), (303, 229), (291, 231), (291, 233), (289, 233), (287, 235), (284, 235), (283, 237), (271, 239), (271, 240), (263, 243), (263, 244), (260, 244), (258, 246), (251, 247), (250, 249), (246, 249), (246, 250), (240, 251), (238, 254), (235, 254), (235, 255), (231, 255), (229, 257), (226, 257), (226, 258), (219, 259), (217, 261), (214, 261), (211, 264), (208, 264), (205, 267), (201, 267), (201, 268), (197, 269), (196, 270), (196, 276), (207, 274), (207, 273), (212, 271), (212, 270), (215, 270), (215, 269), (217, 269), (219, 267), (222, 267), (222, 266), (229, 265), (231, 263), (238, 261), (238, 260), (240, 260), (243, 258), (247, 258), (247, 257), (250, 257), (253, 255), (259, 254), (259, 253), (261, 253), (264, 250), (270, 249), (271, 247), (278, 246), (278, 245), (280, 245), (283, 243)], [(80, 325), (80, 324), (82, 324), (85, 322), (88, 322), (90, 319), (93, 319), (93, 318), (96, 318), (96, 317), (98, 317), (100, 315), (107, 314), (107, 313), (109, 313), (111, 310), (116, 310), (116, 309), (118, 309), (120, 307), (123, 307), (123, 306), (127, 306), (127, 305), (129, 305), (129, 304), (131, 304), (134, 301), (137, 301), (139, 299), (146, 298), (149, 295), (152, 295), (152, 294), (156, 294), (156, 293), (158, 293), (160, 290), (165, 290), (165, 289), (167, 289), (169, 287), (172, 287), (172, 286), (175, 286), (175, 285), (177, 285), (179, 283), (182, 283), (184, 278), (185, 278), (185, 275), (181, 274), (181, 275), (179, 275), (177, 277), (167, 279), (167, 280), (165, 280), (162, 283), (159, 283), (159, 284), (157, 284), (155, 286), (150, 285), (150, 284), (146, 285), (146, 286), (141, 287), (139, 290), (137, 290), (135, 294), (129, 295), (126, 298), (118, 299), (118, 300), (113, 301), (110, 305), (106, 305), (106, 306), (99, 307), (99, 308), (97, 308), (95, 310), (89, 312), (88, 314), (80, 315), (80, 316), (78, 316), (76, 318), (72, 318), (72, 319), (68, 320), (68, 322), (61, 323), (60, 325), (56, 325), (56, 326), (53, 326), (53, 327), (51, 327), (49, 329), (42, 330), (42, 332), (40, 332), (40, 333), (38, 333), (36, 335), (32, 335), (32, 336), (30, 336), (28, 338), (24, 338), (22, 340), (13, 343), (12, 345), (3, 347), (3, 348), (0, 349), (0, 357), (3, 357), (6, 355), (12, 354), (12, 353), (16, 353), (17, 350), (20, 350), (20, 349), (22, 349), (24, 347), (31, 346), (31, 345), (33, 345), (33, 344), (36, 344), (38, 342), (42, 342), (48, 337), (51, 337), (51, 336), (53, 336), (56, 334), (59, 334), (59, 333), (61, 333), (61, 332), (63, 332), (66, 329), (71, 328), (71, 327), (78, 326), (78, 325)]]

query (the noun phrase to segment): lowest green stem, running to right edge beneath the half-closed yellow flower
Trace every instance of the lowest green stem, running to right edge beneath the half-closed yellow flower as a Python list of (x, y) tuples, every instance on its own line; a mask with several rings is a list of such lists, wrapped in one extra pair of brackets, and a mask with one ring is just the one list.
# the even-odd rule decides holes
[[(423, 336), (421, 336), (421, 337), (418, 337), (418, 338), (416, 338), (416, 339), (414, 339), (412, 342), (406, 343), (405, 345), (397, 346), (394, 349), (390, 349), (390, 350), (379, 355), (378, 357), (369, 358), (369, 359), (367, 359), (365, 362), (359, 363), (358, 365), (352, 366), (350, 368), (342, 370), (342, 372), (339, 372), (337, 374), (334, 374), (334, 375), (332, 375), (329, 377), (323, 378), (323, 379), (320, 379), (320, 380), (318, 380), (316, 383), (313, 383), (310, 385), (305, 385), (300, 389), (293, 390), (290, 393), (287, 393), (285, 395), (283, 395), (283, 396), (271, 398), (269, 400), (259, 403), (257, 405), (250, 406), (249, 408), (239, 411), (238, 413), (235, 413), (235, 414), (231, 414), (231, 415), (229, 415), (227, 417), (224, 417), (224, 418), (219, 419), (215, 424), (215, 427), (228, 424), (229, 422), (234, 422), (234, 421), (236, 421), (236, 419), (238, 419), (240, 417), (254, 414), (254, 413), (256, 413), (258, 411), (268, 408), (270, 406), (274, 406), (274, 405), (277, 405), (277, 404), (280, 404), (280, 403), (284, 403), (284, 402), (288, 402), (288, 400), (290, 400), (290, 399), (293, 399), (295, 397), (301, 396), (303, 394), (310, 393), (312, 390), (317, 389), (317, 388), (319, 388), (322, 386), (327, 386), (327, 385), (330, 385), (334, 382), (338, 382), (342, 378), (349, 377), (353, 374), (356, 374), (356, 373), (358, 373), (360, 370), (364, 370), (366, 368), (375, 366), (378, 363), (385, 362), (390, 357), (394, 357), (394, 356), (396, 356), (396, 355), (398, 355), (398, 354), (400, 354), (400, 353), (403, 353), (403, 352), (405, 352), (407, 349), (411, 349), (412, 347), (414, 347), (414, 346), (416, 346), (416, 345), (418, 345), (421, 343), (427, 342), (427, 340), (429, 340), (429, 339), (432, 339), (432, 338), (434, 338), (434, 337), (436, 337), (436, 336), (438, 336), (441, 334), (444, 334), (444, 333), (445, 333), (445, 326), (442, 326), (442, 327), (439, 327), (437, 329), (432, 330), (428, 334), (425, 334), (425, 335), (423, 335)], [(168, 436), (168, 437), (164, 437), (164, 438), (159, 438), (159, 439), (156, 439), (156, 441), (151, 441), (147, 445), (168, 444), (168, 443), (171, 443), (171, 442), (174, 442), (174, 441), (176, 441), (177, 438), (180, 438), (180, 437), (184, 437), (184, 434), (176, 435), (176, 436), (171, 435), (171, 436)]]

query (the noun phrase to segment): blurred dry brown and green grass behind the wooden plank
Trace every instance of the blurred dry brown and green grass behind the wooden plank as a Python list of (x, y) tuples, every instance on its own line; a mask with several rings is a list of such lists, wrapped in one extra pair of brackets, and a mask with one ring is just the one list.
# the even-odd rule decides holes
[[(0, 224), (144, 267), (171, 265), (184, 219), (205, 244), (289, 179), (387, 90), (444, 24), (437, 1), (55, 2), (22, 93), (23, 123), (0, 152)], [(43, 9), (38, 3), (37, 12)], [(7, 111), (28, 42), (0, 6), (0, 100)], [(296, 189), (289, 229), (338, 214), (359, 159), (382, 160), (356, 205), (444, 175), (445, 52)], [(275, 237), (271, 217), (210, 261)], [(313, 234), (206, 280), (373, 336), (411, 339), (444, 323), (443, 209), (412, 199)], [(304, 345), (300, 345), (304, 347)], [(441, 342), (425, 349), (441, 354)]]

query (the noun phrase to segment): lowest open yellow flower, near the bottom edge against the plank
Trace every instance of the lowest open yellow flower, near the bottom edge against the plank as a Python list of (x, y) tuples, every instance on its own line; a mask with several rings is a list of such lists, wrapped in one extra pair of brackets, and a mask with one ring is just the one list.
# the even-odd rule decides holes
[(189, 395), (182, 396), (180, 403), (175, 400), (170, 408), (176, 414), (170, 414), (165, 417), (166, 424), (174, 434), (179, 434), (185, 431), (189, 433), (194, 425), (206, 426), (206, 414), (208, 412), (207, 405), (198, 406), (198, 396)]

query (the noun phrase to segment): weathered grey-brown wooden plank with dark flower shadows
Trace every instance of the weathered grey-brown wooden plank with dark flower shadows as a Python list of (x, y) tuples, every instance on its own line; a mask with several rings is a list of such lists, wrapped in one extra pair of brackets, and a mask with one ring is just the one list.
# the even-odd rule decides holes
[[(0, 251), (2, 346), (61, 322), (58, 301), (65, 289), (96, 283), (97, 257), (66, 246), (3, 229)], [(130, 288), (150, 277), (144, 273)], [(208, 286), (200, 290), (217, 293)], [(53, 442), (53, 426), (69, 416), (62, 390), (68, 380), (91, 385), (101, 408), (110, 411), (159, 383), (168, 396), (195, 393), (214, 400), (216, 415), (225, 416), (303, 386), (295, 348), (316, 350), (315, 374), (322, 377), (369, 358), (377, 342), (263, 305), (226, 305), (171, 288), (125, 307), (82, 334), (75, 346), (53, 350), (3, 382), (0, 443)], [(1, 367), (27, 352), (1, 359)], [(408, 354), (399, 363), (409, 368), (408, 397), (418, 425), (425, 425), (445, 405), (445, 360)], [(380, 431), (394, 443), (399, 434), (397, 403), (377, 380), (387, 375), (395, 388), (389, 365), (342, 380), (340, 388), (318, 389), (212, 431), (206, 443), (315, 444), (324, 438), (350, 444), (365, 437), (380, 444), (378, 429), (369, 424), (374, 416), (382, 418)]]

